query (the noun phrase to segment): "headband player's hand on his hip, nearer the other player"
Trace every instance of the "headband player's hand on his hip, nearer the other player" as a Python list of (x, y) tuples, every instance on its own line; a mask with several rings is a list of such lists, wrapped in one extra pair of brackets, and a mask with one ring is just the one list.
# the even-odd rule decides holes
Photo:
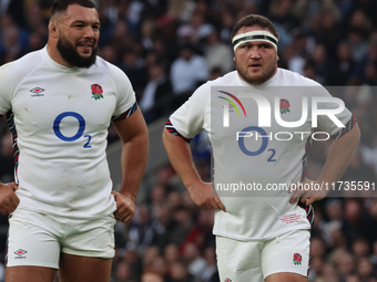
[(192, 200), (203, 210), (221, 209), (226, 212), (226, 209), (218, 198), (212, 184), (201, 181), (200, 186), (191, 189)]

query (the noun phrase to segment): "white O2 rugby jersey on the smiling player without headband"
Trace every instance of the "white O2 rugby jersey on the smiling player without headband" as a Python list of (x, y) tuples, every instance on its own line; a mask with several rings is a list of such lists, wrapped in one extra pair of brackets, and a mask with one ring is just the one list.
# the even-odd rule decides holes
[(0, 85), (18, 208), (79, 218), (114, 211), (105, 148), (110, 122), (137, 106), (126, 75), (101, 58), (89, 69), (65, 67), (44, 48), (2, 65)]

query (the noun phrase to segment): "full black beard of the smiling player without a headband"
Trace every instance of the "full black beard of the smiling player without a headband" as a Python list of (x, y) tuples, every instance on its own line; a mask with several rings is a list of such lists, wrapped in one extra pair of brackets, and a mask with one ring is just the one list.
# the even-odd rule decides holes
[(82, 56), (61, 31), (59, 32), (57, 49), (62, 59), (70, 65), (88, 69), (95, 63), (98, 46), (92, 49), (92, 54), (90, 56)]

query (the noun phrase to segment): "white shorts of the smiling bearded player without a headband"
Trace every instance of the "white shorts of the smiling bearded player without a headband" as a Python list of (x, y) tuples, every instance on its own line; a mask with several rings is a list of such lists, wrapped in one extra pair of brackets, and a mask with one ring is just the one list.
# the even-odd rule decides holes
[(59, 269), (61, 252), (113, 258), (115, 222), (113, 215), (71, 219), (17, 209), (9, 218), (6, 265)]

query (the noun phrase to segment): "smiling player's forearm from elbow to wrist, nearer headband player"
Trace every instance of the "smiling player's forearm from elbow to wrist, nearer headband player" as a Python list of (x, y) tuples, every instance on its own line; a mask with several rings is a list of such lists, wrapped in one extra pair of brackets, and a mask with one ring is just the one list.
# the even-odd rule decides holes
[(140, 182), (142, 180), (149, 153), (147, 133), (133, 137), (123, 143), (122, 148), (122, 185), (120, 192), (136, 198)]

